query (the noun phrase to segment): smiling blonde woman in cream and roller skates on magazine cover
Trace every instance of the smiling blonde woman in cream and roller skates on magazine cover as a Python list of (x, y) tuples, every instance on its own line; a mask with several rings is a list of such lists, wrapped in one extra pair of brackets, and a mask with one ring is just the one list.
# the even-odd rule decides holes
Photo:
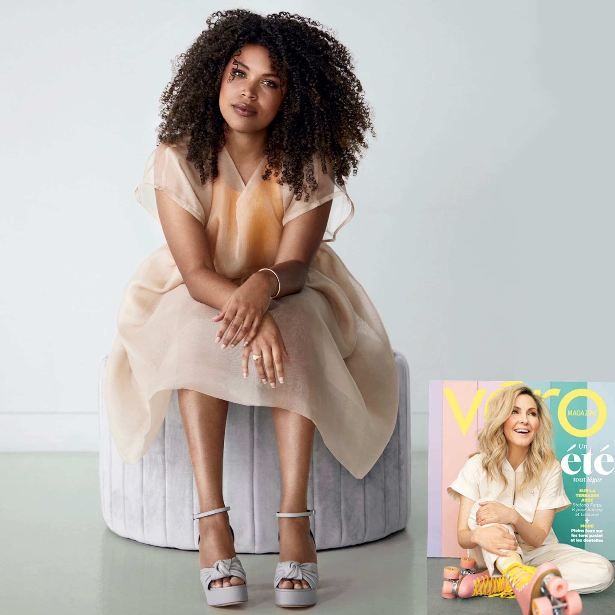
[(524, 614), (534, 604), (532, 613), (541, 615), (569, 602), (566, 613), (574, 615), (581, 612), (579, 593), (613, 582), (610, 561), (555, 536), (554, 515), (571, 502), (552, 448), (549, 408), (526, 384), (504, 387), (491, 399), (478, 451), (447, 493), (459, 502), (459, 546), (487, 569), (450, 577), (443, 596), (516, 597)]

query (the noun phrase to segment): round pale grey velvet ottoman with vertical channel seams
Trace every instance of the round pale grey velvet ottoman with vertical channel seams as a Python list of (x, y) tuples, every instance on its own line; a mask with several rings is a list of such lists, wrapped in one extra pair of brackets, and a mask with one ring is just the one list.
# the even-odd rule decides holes
[[(317, 549), (346, 547), (402, 530), (409, 509), (410, 376), (394, 352), (399, 372), (395, 431), (375, 466), (361, 480), (333, 457), (318, 430), (308, 483), (308, 508)], [(100, 499), (109, 529), (159, 547), (198, 549), (200, 512), (186, 436), (173, 391), (156, 439), (140, 462), (124, 464), (111, 438), (103, 399), (105, 357), (99, 369)], [(270, 408), (229, 403), (224, 440), (224, 503), (237, 553), (278, 553), (281, 499), (277, 440)]]

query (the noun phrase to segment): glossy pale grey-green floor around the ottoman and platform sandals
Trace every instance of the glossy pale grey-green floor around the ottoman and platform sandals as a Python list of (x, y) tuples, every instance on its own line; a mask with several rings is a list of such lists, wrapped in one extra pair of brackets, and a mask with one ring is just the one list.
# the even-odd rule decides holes
[[(100, 510), (98, 453), (0, 453), (2, 615), (192, 615), (292, 610), (335, 615), (426, 611), (427, 453), (411, 458), (410, 521), (379, 541), (319, 551), (318, 603), (273, 603), (277, 554), (240, 555), (244, 605), (207, 606), (196, 551), (121, 538)], [(414, 528), (414, 529), (413, 529)]]

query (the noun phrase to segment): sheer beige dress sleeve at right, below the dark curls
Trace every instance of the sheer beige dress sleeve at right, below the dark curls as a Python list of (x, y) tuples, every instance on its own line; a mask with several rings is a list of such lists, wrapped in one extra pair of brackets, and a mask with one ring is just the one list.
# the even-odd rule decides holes
[[(303, 198), (301, 200), (296, 200), (295, 196), (292, 194), (292, 188), (288, 186), (290, 194), (288, 194), (288, 192), (285, 194), (282, 226), (285, 226), (287, 222), (294, 220), (302, 213), (309, 212), (315, 207), (326, 203), (328, 200), (333, 200), (331, 203), (331, 212), (329, 213), (329, 219), (327, 221), (327, 228), (322, 238), (325, 242), (331, 242), (335, 241), (335, 236), (339, 229), (352, 220), (352, 216), (354, 216), (354, 204), (347, 195), (345, 186), (339, 186), (335, 181), (329, 159), (325, 159), (325, 162), (327, 163), (327, 173), (323, 173), (320, 167), (320, 157), (314, 157), (314, 179), (318, 187), (315, 189), (314, 194), (310, 194), (307, 202), (303, 200)], [(307, 184), (307, 182), (305, 183)]]

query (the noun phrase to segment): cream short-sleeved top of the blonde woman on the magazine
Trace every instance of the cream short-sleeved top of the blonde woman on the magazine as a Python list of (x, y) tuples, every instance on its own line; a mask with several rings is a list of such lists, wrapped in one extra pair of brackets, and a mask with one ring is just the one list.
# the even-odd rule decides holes
[[(534, 520), (536, 510), (555, 509), (555, 512), (559, 512), (571, 505), (564, 490), (561, 466), (557, 459), (553, 466), (544, 472), (539, 485), (528, 485), (523, 491), (517, 491), (517, 485), (523, 480), (525, 461), (521, 462), (517, 470), (513, 470), (508, 460), (504, 460), (502, 472), (504, 472), (508, 480), (508, 485), (502, 491), (502, 483), (490, 480), (488, 477), (483, 469), (482, 459), (483, 453), (470, 457), (461, 468), (458, 477), (446, 489), (446, 493), (455, 501), (460, 501), (460, 495), (466, 496), (466, 498), (473, 501), (494, 499), (504, 504), (504, 506), (517, 510), (530, 523)], [(523, 550), (533, 549), (517, 533), (515, 533), (515, 536), (517, 537), (517, 542), (522, 544)], [(558, 542), (558, 540), (553, 528), (550, 528), (549, 534), (547, 534), (542, 544), (550, 544), (552, 542)]]

